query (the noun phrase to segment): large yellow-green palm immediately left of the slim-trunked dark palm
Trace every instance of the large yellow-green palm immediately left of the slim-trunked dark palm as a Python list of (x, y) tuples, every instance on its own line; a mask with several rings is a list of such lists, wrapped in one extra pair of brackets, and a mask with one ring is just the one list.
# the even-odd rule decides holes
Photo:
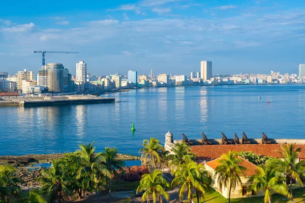
[(103, 153), (95, 153), (95, 147), (93, 147), (95, 142), (87, 145), (79, 145), (80, 150), (76, 151), (77, 161), (81, 168), (79, 168), (77, 173), (77, 178), (81, 178), (84, 175), (89, 174), (91, 179), (91, 184), (95, 188), (95, 192), (100, 202), (98, 195), (98, 186), (100, 180), (103, 178), (110, 178), (110, 172), (105, 168), (106, 157)]

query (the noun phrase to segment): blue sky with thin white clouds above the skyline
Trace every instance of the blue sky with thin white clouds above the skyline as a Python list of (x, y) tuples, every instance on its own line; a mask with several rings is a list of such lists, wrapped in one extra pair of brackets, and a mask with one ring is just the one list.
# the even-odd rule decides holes
[(298, 73), (305, 63), (305, 1), (15, 0), (2, 1), (0, 72), (41, 68), (34, 50), (75, 75), (84, 60), (93, 75), (128, 70), (148, 75)]

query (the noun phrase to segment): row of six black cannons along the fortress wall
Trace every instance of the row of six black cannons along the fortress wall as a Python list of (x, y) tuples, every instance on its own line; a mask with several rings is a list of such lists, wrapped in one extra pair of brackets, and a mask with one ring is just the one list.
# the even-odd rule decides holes
[[(207, 137), (205, 136), (205, 134), (203, 132), (202, 133), (202, 145), (211, 145), (212, 143), (210, 141), (208, 141)], [(227, 136), (225, 136), (225, 134), (222, 132), (222, 144), (223, 145), (232, 145), (233, 143), (231, 141), (228, 140)], [(190, 140), (185, 136), (184, 133), (182, 133), (182, 137), (183, 137), (183, 142), (186, 143), (187, 145), (193, 145), (192, 142), (190, 142)], [(240, 141), (239, 138), (237, 137), (237, 134), (234, 133), (234, 144), (235, 145), (239, 145)], [(251, 144), (250, 140), (248, 140), (245, 132), (242, 132), (242, 144)], [(262, 132), (262, 144), (271, 144), (271, 141), (268, 140), (266, 134), (264, 132)]]

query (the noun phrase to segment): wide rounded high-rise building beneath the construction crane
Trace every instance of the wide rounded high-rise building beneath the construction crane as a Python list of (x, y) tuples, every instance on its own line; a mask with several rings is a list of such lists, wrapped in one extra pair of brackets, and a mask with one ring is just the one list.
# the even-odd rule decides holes
[(71, 74), (62, 63), (47, 63), (39, 70), (37, 84), (48, 87), (53, 93), (73, 90)]

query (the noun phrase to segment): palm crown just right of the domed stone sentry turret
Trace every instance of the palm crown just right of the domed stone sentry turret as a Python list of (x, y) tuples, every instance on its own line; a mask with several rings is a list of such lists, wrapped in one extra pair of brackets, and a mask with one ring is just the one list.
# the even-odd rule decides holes
[(195, 157), (191, 152), (191, 148), (186, 143), (175, 144), (171, 151), (173, 154), (168, 155), (168, 159), (171, 160), (171, 164), (174, 166), (182, 165), (187, 160)]

